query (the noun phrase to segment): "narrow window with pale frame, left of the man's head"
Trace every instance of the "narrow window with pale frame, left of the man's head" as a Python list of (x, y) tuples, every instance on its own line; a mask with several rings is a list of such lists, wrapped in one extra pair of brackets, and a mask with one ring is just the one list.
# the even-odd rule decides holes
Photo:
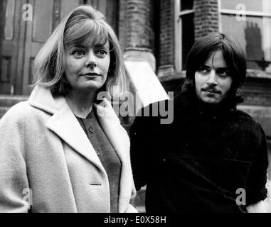
[(186, 57), (194, 43), (193, 0), (175, 0), (175, 67), (186, 69)]

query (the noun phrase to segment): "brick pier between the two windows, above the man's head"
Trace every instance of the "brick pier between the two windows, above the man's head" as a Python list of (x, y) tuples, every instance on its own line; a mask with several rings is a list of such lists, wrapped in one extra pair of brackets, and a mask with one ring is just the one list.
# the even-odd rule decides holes
[(218, 31), (218, 0), (194, 0), (195, 39)]

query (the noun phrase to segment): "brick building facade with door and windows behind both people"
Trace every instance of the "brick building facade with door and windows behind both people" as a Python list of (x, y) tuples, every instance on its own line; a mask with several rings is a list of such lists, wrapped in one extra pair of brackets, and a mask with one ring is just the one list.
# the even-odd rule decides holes
[(0, 1), (0, 115), (30, 94), (33, 58), (60, 20), (80, 4), (107, 16), (124, 59), (149, 62), (167, 92), (181, 89), (195, 40), (213, 31), (235, 37), (248, 60), (245, 102), (239, 108), (262, 124), (271, 153), (270, 0)]

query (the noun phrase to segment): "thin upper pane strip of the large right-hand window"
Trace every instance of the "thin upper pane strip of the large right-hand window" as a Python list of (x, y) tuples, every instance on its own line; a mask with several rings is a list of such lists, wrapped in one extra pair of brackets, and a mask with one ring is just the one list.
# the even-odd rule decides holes
[(236, 10), (236, 6), (238, 6), (238, 4), (243, 4), (245, 5), (245, 10), (248, 11), (262, 11), (262, 1), (265, 0), (220, 0), (221, 9)]

